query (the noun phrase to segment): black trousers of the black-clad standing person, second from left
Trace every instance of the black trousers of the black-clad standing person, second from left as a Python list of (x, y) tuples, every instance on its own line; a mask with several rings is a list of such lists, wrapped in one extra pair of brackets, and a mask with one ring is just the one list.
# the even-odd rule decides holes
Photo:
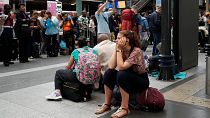
[(28, 57), (31, 56), (31, 31), (29, 27), (21, 28), (20, 34), (17, 34), (19, 40), (19, 61), (27, 61)]

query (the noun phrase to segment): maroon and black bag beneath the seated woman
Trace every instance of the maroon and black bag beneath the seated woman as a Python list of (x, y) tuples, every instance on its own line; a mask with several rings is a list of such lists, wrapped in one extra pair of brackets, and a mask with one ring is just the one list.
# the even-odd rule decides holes
[[(121, 105), (121, 94), (117, 86), (114, 88), (111, 103), (113, 106)], [(128, 105), (134, 110), (157, 112), (164, 109), (165, 99), (158, 89), (148, 87), (141, 93), (130, 94)]]

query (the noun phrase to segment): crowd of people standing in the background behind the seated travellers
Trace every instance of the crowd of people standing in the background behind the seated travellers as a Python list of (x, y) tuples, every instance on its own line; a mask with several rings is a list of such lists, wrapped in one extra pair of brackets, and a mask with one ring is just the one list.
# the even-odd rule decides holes
[[(19, 59), (20, 63), (29, 62), (28, 58), (56, 57), (60, 51), (59, 43), (66, 44), (65, 54), (70, 54), (75, 47), (75, 39), (79, 36), (86, 37), (88, 45), (94, 47), (100, 34), (108, 35), (110, 40), (115, 40), (117, 34), (123, 29), (123, 15), (116, 12), (116, 8), (106, 8), (105, 4), (100, 4), (95, 15), (89, 16), (87, 11), (82, 11), (81, 16), (76, 12), (62, 13), (53, 16), (49, 11), (32, 11), (26, 14), (25, 5), (19, 5), (19, 11), (12, 13), (11, 6), (5, 5), (4, 13), (8, 17), (3, 20), (1, 48), (1, 61), (5, 66), (13, 64), (12, 60)], [(113, 6), (115, 6), (113, 4)], [(154, 11), (150, 16), (143, 16), (138, 13), (134, 6), (130, 10), (133, 12), (132, 29), (139, 34), (139, 38), (154, 37), (153, 55), (158, 54), (156, 46), (160, 42), (160, 10)], [(135, 28), (137, 27), (137, 28)], [(136, 30), (138, 29), (138, 30)], [(9, 33), (10, 35), (5, 35)], [(18, 40), (18, 44), (13, 39)], [(16, 40), (16, 41), (17, 41)], [(13, 45), (12, 45), (13, 44)], [(8, 49), (7, 49), (8, 48)]]

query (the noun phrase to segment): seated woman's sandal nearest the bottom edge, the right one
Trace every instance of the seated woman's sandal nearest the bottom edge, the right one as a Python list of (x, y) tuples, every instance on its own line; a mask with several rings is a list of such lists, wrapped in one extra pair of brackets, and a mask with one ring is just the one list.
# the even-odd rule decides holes
[[(121, 112), (123, 112), (123, 111), (125, 111), (125, 113), (122, 114)], [(130, 113), (130, 110), (128, 108), (120, 107), (115, 113), (113, 113), (111, 115), (111, 118), (122, 118), (122, 117), (128, 115), (129, 113)]]

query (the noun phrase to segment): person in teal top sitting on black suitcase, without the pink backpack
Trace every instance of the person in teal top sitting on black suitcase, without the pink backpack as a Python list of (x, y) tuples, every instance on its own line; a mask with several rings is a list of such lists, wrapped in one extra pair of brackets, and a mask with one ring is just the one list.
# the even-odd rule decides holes
[[(84, 37), (78, 38), (78, 46), (79, 48), (89, 48), (87, 46), (86, 39)], [(94, 52), (97, 54), (97, 52)], [(56, 71), (55, 74), (55, 91), (53, 91), (50, 95), (46, 96), (47, 100), (62, 100), (61, 96), (61, 88), (64, 82), (75, 83), (79, 82), (76, 77), (76, 70), (74, 69), (75, 64), (78, 63), (79, 51), (75, 49), (70, 56), (66, 69), (60, 69)], [(86, 91), (85, 98), (87, 100), (91, 99), (92, 93), (92, 85), (84, 85), (84, 89)]]

